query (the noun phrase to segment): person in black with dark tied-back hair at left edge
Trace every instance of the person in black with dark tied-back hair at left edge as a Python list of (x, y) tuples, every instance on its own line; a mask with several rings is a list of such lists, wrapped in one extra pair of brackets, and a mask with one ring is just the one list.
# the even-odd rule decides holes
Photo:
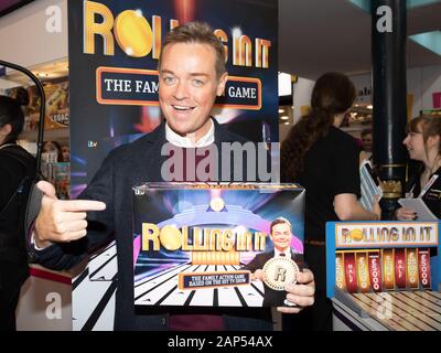
[(0, 96), (0, 330), (15, 330), (20, 288), (29, 277), (24, 213), (35, 159), (17, 145), (26, 95)]

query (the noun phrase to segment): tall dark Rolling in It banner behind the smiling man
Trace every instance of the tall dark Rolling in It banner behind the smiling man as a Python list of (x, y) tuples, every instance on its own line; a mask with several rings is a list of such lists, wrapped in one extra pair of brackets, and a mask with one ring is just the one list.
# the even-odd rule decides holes
[(68, 10), (73, 197), (111, 149), (160, 124), (161, 42), (187, 21), (207, 22), (226, 50), (215, 118), (249, 140), (278, 141), (276, 1), (68, 1)]

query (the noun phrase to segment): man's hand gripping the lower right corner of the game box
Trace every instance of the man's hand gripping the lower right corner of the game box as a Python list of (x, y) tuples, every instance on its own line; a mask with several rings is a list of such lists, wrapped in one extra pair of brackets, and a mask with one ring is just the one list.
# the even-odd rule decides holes
[(294, 303), (297, 307), (278, 307), (277, 311), (279, 312), (298, 313), (304, 307), (310, 307), (314, 303), (314, 275), (309, 269), (304, 269), (303, 272), (297, 274), (297, 284), (287, 285), (284, 289), (288, 292), (287, 300)]

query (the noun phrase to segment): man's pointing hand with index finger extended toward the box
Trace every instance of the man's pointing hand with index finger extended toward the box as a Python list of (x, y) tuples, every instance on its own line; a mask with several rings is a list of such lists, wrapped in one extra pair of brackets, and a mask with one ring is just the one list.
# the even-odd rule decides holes
[(58, 200), (55, 188), (45, 181), (36, 186), (43, 192), (35, 218), (35, 245), (45, 248), (54, 243), (68, 243), (87, 234), (87, 211), (106, 210), (106, 204), (89, 200)]

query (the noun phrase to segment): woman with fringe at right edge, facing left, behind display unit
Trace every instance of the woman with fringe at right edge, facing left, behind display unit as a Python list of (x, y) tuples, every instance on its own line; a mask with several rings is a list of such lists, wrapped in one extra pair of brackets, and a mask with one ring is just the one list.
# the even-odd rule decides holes
[[(407, 127), (407, 137), (402, 141), (410, 159), (421, 162), (406, 188), (407, 196), (420, 197), (432, 213), (441, 218), (441, 119), (419, 117)], [(413, 210), (400, 207), (397, 220), (417, 220)]]

